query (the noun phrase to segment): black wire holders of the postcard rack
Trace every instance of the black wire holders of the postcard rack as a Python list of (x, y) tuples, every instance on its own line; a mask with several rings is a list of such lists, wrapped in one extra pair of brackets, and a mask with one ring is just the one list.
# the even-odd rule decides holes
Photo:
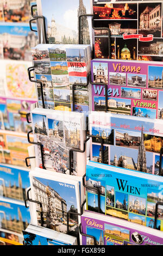
[[(43, 38), (43, 43), (48, 44), (47, 35), (46, 35), (46, 21), (45, 21), (45, 17), (44, 17), (44, 16), (36, 16), (36, 15), (34, 15), (33, 8), (36, 8), (36, 7), (37, 7), (36, 4), (32, 5), (32, 7), (31, 7), (31, 14), (32, 14), (33, 19), (31, 19), (31, 20), (29, 21), (29, 26), (30, 26), (31, 31), (34, 31), (34, 32), (37, 32), (37, 33), (38, 33), (38, 31), (36, 31), (35, 29), (32, 28), (32, 22), (35, 21), (35, 20), (38, 21), (39, 19), (41, 19), (41, 20), (42, 20), (42, 25), (43, 25), (43, 26), (42, 26), (42, 34), (43, 34), (43, 35), (42, 35), (42, 38)], [(109, 29), (108, 27), (100, 27), (100, 28), (95, 27), (95, 26), (94, 26), (94, 20), (93, 20), (93, 14), (82, 14), (82, 15), (79, 16), (79, 18), (78, 18), (78, 27), (79, 27), (78, 44), (81, 44), (81, 36), (82, 36), (82, 35), (81, 35), (81, 20), (82, 20), (84, 17), (86, 17), (86, 16), (92, 17), (92, 28), (93, 28), (93, 29), (97, 29), (97, 30), (98, 30), (98, 29), (100, 29), (100, 30), (101, 30), (101, 29), (105, 29), (106, 31), (108, 31), (108, 45), (109, 45), (109, 48), (108, 48), (108, 56), (109, 56), (109, 59), (110, 59), (110, 58), (111, 58), (110, 29)], [(38, 23), (37, 23), (37, 24), (38, 24)], [(37, 29), (38, 29), (38, 28), (37, 28)], [(41, 43), (41, 42), (39, 41), (39, 44), (40, 44), (40, 43)], [(92, 50), (92, 56), (94, 56), (93, 50)], [(32, 77), (32, 75), (31, 75), (31, 72), (32, 72), (32, 71), (34, 71), (34, 66), (28, 68), (29, 80), (30, 80), (31, 82), (39, 83), (39, 84), (40, 84), (40, 87), (41, 87), (42, 108), (45, 108), (45, 102), (44, 102), (44, 99), (43, 99), (43, 84), (42, 84), (41, 81), (36, 81), (36, 80), (32, 79), (32, 78), (34, 78), (34, 77)], [(87, 83), (85, 84), (84, 87), (89, 86), (89, 83), (90, 83), (91, 85), (92, 85), (92, 84), (95, 84), (95, 85), (103, 86), (103, 87), (105, 88), (105, 92), (107, 92), (107, 90), (108, 90), (107, 84), (105, 84), (105, 83), (94, 83), (94, 82), (92, 82), (92, 80), (91, 80), (91, 72), (87, 75)], [(73, 111), (73, 112), (75, 111), (75, 100), (74, 100), (74, 95), (75, 95), (75, 93), (74, 93), (74, 92), (75, 92), (77, 86), (78, 86), (78, 87), (79, 87), (79, 86), (83, 87), (83, 84), (74, 83), (74, 84), (72, 85), (72, 111)], [(108, 112), (108, 94), (107, 94), (107, 93), (105, 94), (105, 112)], [(27, 113), (27, 115), (26, 115), (27, 122), (28, 122), (28, 123), (32, 123), (32, 122), (30, 121), (29, 117), (30, 117), (30, 113)], [(88, 124), (87, 124), (87, 125), (88, 125)], [(30, 144), (39, 145), (40, 150), (41, 150), (42, 168), (43, 168), (43, 169), (46, 169), (46, 168), (45, 168), (45, 165), (44, 165), (44, 161), (43, 161), (43, 145), (42, 145), (41, 143), (36, 143), (36, 142), (30, 141), (30, 133), (32, 133), (32, 132), (33, 132), (33, 131), (29, 131), (28, 134), (27, 134), (28, 142), (29, 142)], [(84, 153), (84, 152), (85, 152), (85, 149), (86, 149), (86, 142), (89, 141), (90, 138), (98, 138), (98, 139), (100, 140), (100, 142), (101, 142), (102, 163), (104, 163), (104, 148), (103, 148), (103, 144), (104, 144), (104, 143), (103, 143), (103, 138), (102, 138), (101, 136), (90, 135), (88, 129), (86, 129), (86, 136), (87, 136), (87, 138), (86, 138), (85, 141), (84, 141), (83, 150), (78, 150), (78, 149), (73, 149), (73, 148), (71, 148), (71, 149), (69, 150), (69, 169), (70, 169), (70, 175), (72, 175), (72, 173), (73, 173), (73, 167), (72, 167), (72, 163), (73, 163), (73, 152)], [(163, 176), (163, 173), (162, 173), (162, 171), (161, 171), (162, 153), (163, 153), (163, 147), (162, 147), (161, 150), (160, 150), (159, 175), (161, 175), (161, 176)], [(34, 158), (35, 158), (35, 156), (30, 156), (30, 157), (27, 157), (27, 158), (26, 158), (26, 166), (27, 166), (27, 167), (30, 167), (30, 164), (28, 163), (28, 160), (34, 159)], [(101, 192), (99, 191), (99, 188), (98, 188), (98, 187), (90, 187), (90, 186), (87, 186), (87, 185), (85, 184), (85, 176), (86, 176), (86, 174), (83, 175), (83, 186), (84, 186), (85, 188), (88, 188), (88, 189), (91, 188), (91, 190), (95, 190), (95, 192), (98, 194), (98, 212), (100, 213), (100, 212), (101, 212), (101, 211), (100, 211), (100, 210), (101, 210), (101, 208), (100, 208), (100, 196), (101, 196)], [(32, 202), (32, 203), (36, 203), (36, 204), (39, 204), (39, 205), (40, 205), (41, 226), (43, 226), (42, 203), (39, 202), (39, 201), (32, 200), (31, 198), (29, 198), (29, 191), (30, 191), (30, 189), (31, 189), (31, 188), (29, 188), (28, 191), (27, 191), (27, 199), (25, 200), (25, 206), (26, 206), (26, 208), (29, 208), (29, 206), (27, 205), (27, 202)], [(66, 225), (67, 225), (67, 232), (66, 232), (66, 234), (69, 234), (69, 219), (70, 219), (70, 215), (78, 215), (78, 216), (81, 216), (81, 215), (83, 214), (83, 208), (84, 208), (85, 203), (86, 203), (86, 199), (84, 200), (83, 204), (80, 206), (80, 213), (78, 213), (78, 212), (67, 212), (67, 223), (66, 223)], [(154, 228), (156, 228), (156, 222), (157, 222), (157, 216), (158, 216), (158, 206), (159, 206), (159, 205), (163, 205), (163, 203), (161, 203), (161, 202), (156, 203), (156, 206), (155, 206), (155, 218), (154, 218)], [(84, 234), (84, 233), (82, 232), (82, 224), (81, 224), (81, 223), (79, 224), (79, 233), (80, 233), (80, 235), (87, 236), (87, 237), (91, 237), (91, 238), (93, 239), (94, 245), (96, 245), (96, 238), (95, 238), (95, 236)], [(78, 240), (78, 244), (79, 244), (79, 240)]]

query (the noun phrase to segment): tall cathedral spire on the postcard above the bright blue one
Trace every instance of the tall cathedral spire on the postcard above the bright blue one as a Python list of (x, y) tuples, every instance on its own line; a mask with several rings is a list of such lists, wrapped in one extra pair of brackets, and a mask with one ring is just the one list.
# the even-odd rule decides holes
[(143, 139), (143, 126), (141, 129), (141, 141), (140, 141), (140, 146), (139, 146), (139, 151), (137, 156), (137, 170), (143, 173), (148, 172), (147, 160), (146, 160), (146, 148), (145, 148), (144, 139)]

